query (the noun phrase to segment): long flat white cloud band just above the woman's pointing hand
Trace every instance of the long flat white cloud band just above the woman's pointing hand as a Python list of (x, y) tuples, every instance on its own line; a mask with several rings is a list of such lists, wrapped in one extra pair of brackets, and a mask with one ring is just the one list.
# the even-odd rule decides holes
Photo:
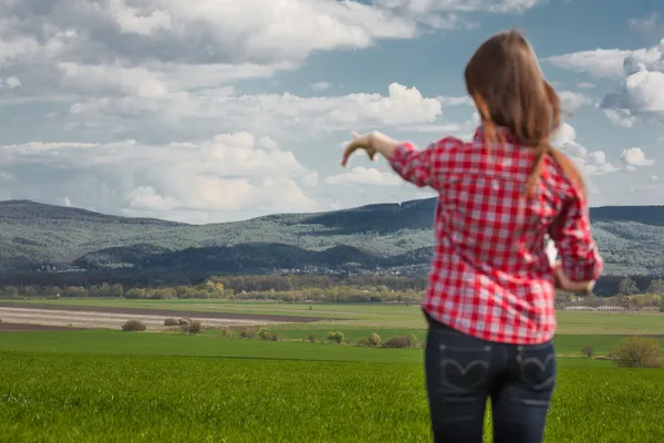
[(434, 123), (440, 115), (438, 100), (398, 83), (388, 94), (354, 93), (342, 96), (300, 97), (293, 94), (222, 96), (166, 94), (152, 97), (92, 99), (74, 104), (68, 123), (98, 131), (104, 127), (123, 135), (154, 128), (201, 133), (215, 127), (237, 128), (295, 136), (321, 131), (375, 128)]

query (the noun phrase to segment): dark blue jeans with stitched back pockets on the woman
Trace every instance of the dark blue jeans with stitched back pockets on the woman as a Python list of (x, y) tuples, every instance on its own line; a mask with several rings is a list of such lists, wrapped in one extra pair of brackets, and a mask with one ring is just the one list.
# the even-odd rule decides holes
[(426, 389), (435, 443), (481, 443), (491, 400), (495, 443), (541, 443), (557, 382), (553, 343), (484, 341), (429, 319)]

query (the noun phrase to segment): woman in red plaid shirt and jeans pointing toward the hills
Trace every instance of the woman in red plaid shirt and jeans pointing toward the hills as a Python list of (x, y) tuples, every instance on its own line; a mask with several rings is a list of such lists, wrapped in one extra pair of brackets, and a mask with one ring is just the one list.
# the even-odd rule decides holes
[(354, 134), (342, 165), (360, 148), (380, 153), (404, 179), (438, 192), (423, 302), (434, 440), (481, 442), (490, 399), (495, 442), (537, 443), (557, 380), (554, 289), (589, 292), (602, 259), (581, 175), (549, 144), (560, 101), (526, 39), (490, 38), (465, 78), (481, 119), (471, 142), (445, 137), (417, 151)]

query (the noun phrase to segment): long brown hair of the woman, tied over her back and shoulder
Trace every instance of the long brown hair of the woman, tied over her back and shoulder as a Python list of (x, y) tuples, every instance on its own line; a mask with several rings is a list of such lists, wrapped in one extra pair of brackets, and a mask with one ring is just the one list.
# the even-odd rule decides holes
[(527, 195), (532, 194), (547, 155), (551, 155), (570, 182), (585, 194), (579, 169), (549, 142), (560, 126), (560, 99), (544, 80), (535, 52), (520, 32), (501, 32), (485, 41), (466, 65), (465, 78), (487, 141), (501, 142), (496, 126), (504, 126), (519, 144), (535, 150)]

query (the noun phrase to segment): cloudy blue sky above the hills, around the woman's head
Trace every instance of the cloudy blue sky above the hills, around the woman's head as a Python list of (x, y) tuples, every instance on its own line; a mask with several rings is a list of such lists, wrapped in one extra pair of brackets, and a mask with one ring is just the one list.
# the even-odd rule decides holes
[(478, 123), (463, 71), (517, 28), (592, 206), (664, 199), (661, 0), (0, 0), (0, 199), (201, 224), (433, 196), (352, 131)]

